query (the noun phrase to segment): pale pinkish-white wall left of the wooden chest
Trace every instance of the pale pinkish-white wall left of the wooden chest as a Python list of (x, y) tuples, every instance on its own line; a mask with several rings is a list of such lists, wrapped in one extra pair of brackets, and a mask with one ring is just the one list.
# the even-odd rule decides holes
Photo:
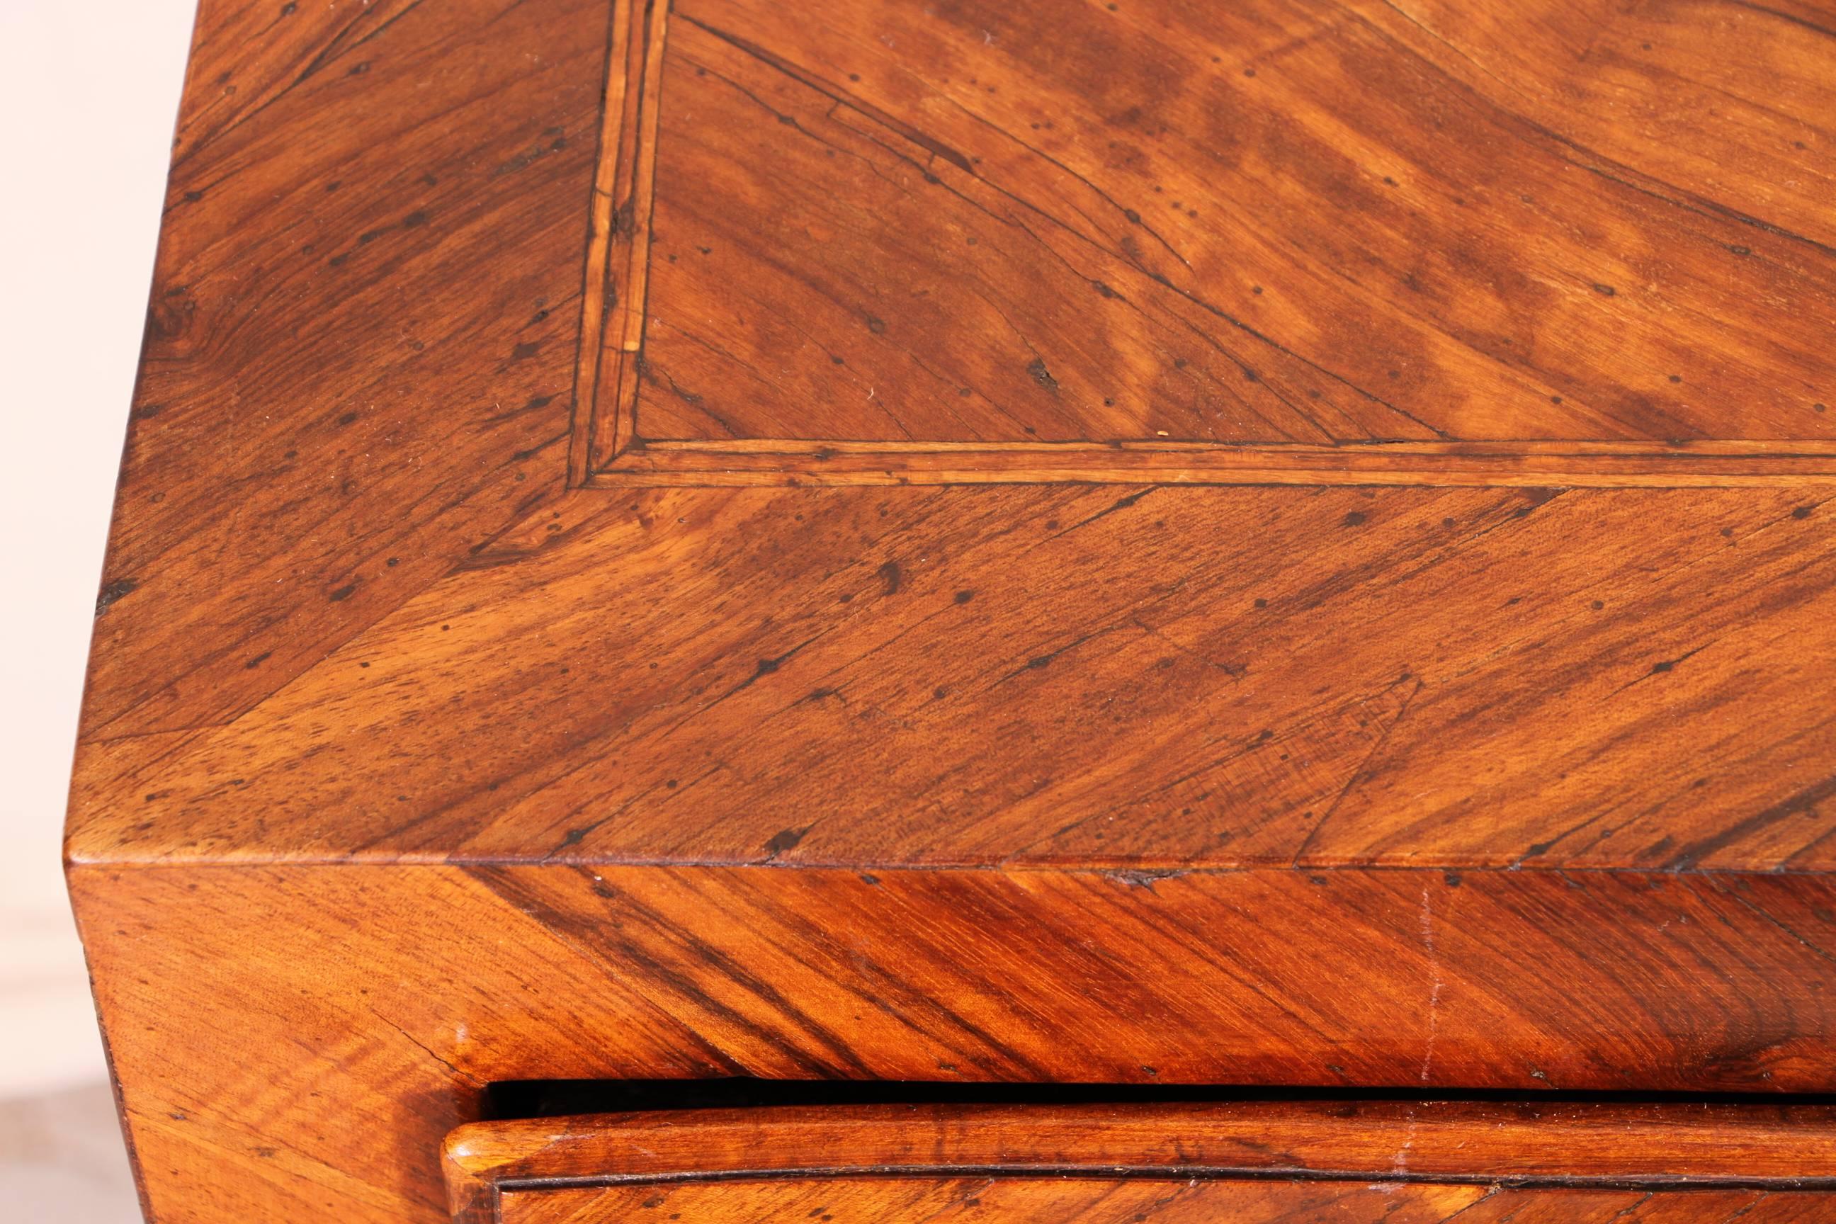
[(0, 0), (0, 1103), (105, 1074), (59, 842), (191, 7)]

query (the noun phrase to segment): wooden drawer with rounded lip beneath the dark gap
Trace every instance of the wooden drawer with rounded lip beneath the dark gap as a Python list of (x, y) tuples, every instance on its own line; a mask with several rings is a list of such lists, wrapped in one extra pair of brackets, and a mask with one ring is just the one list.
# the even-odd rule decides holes
[(490, 1121), (459, 1224), (1836, 1220), (1836, 1107), (1232, 1101)]

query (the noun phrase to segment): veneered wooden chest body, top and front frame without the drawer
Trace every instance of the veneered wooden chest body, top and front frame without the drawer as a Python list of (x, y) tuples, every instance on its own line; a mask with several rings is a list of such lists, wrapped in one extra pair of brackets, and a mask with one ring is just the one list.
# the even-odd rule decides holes
[(68, 831), (152, 1218), (437, 1220), (503, 1079), (1836, 1088), (1829, 29), (204, 0)]

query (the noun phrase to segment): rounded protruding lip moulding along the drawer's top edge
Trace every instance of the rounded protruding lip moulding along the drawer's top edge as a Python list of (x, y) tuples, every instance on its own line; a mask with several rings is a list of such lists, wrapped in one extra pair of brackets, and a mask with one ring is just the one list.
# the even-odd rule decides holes
[[(553, 1187), (582, 1182), (611, 1185), (608, 1195), (571, 1198), (591, 1204), (582, 1218), (617, 1218), (613, 1206), (621, 1202), (641, 1206), (641, 1196), (626, 1198), (628, 1191), (617, 1185), (624, 1182), (646, 1182), (652, 1195), (666, 1195), (646, 1209), (681, 1207), (690, 1218), (700, 1213), (727, 1218), (722, 1211), (736, 1218), (747, 1211), (758, 1213), (753, 1218), (789, 1218), (791, 1202), (810, 1207), (824, 1193), (859, 1196), (859, 1211), (903, 1218), (925, 1206), (949, 1209), (958, 1198), (951, 1180), (960, 1189), (973, 1185), (975, 1174), (1013, 1187), (1015, 1202), (1006, 1207), (997, 1206), (1004, 1195), (993, 1200), (977, 1195), (995, 1220), (1008, 1218), (1004, 1211), (1013, 1218), (1054, 1218), (1052, 1211), (1081, 1218), (1076, 1211), (1085, 1206), (1111, 1211), (1116, 1202), (1138, 1196), (1157, 1202), (1173, 1189), (1166, 1180), (1177, 1185), (1247, 1174), (1384, 1182), (1390, 1191), (1406, 1180), (1469, 1182), (1478, 1189), (1458, 1204), (1467, 1206), (1504, 1180), (1647, 1191), (1730, 1182), (1755, 1189), (1836, 1189), (1836, 1108), (1245, 1101), (683, 1110), (474, 1123), (448, 1136), (444, 1167), (453, 1217), (463, 1224), (494, 1218), (499, 1195), (505, 1218), (518, 1218), (509, 1209), (510, 1198), (534, 1202)], [(850, 1187), (837, 1176), (843, 1173), (861, 1176), (867, 1187)], [(1085, 1182), (1081, 1193), (1070, 1191), (1069, 1200), (1032, 1200), (1032, 1191), (1021, 1189), (1026, 1182), (1012, 1178), (1021, 1173), (1094, 1182)], [(909, 1200), (900, 1196), (898, 1184), (885, 1180), (894, 1174), (912, 1178)], [(687, 1204), (679, 1204), (666, 1185), (677, 1178), (780, 1185), (727, 1196), (690, 1191)], [(1129, 1185), (1124, 1178), (1146, 1184)], [(1269, 1207), (1254, 1196), (1239, 1204), (1237, 1193), (1223, 1189), (1181, 1202), (1199, 1211), (1193, 1218), (1232, 1220), (1237, 1206), (1250, 1209), (1245, 1218), (1269, 1218), (1259, 1215)], [(1241, 1191), (1243, 1184), (1228, 1189)], [(1322, 1202), (1342, 1193), (1344, 1187), (1327, 1191)], [(718, 1206), (723, 1202), (731, 1206)], [(1836, 1198), (1829, 1209), (1836, 1211)], [(837, 1211), (837, 1218), (848, 1217)]]

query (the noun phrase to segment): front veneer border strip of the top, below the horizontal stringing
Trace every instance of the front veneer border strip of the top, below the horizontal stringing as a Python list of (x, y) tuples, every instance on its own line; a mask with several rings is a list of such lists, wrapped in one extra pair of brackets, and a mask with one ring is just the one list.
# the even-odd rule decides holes
[(1830, 523), (1785, 490), (582, 494), (84, 774), (72, 850), (1821, 870)]

